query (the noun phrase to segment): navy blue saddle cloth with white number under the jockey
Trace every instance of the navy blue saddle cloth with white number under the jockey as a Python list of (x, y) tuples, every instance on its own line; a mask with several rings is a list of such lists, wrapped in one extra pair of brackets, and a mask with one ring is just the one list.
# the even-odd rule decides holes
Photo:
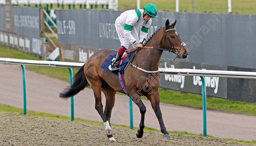
[[(116, 54), (117, 54), (117, 52), (114, 52), (114, 53), (110, 54), (107, 57), (107, 59), (104, 61), (104, 63), (102, 63), (101, 68), (103, 68), (104, 70), (109, 71), (110, 73), (113, 73), (113, 72), (111, 72), (111, 69), (112, 69), (112, 66), (113, 66), (112, 63), (115, 62)], [(130, 54), (131, 53), (127, 54), (127, 57), (125, 59), (123, 59), (123, 62), (122, 62), (121, 65), (119, 64), (119, 68), (121, 69), (121, 74), (124, 73), (124, 68), (125, 68), (128, 60), (129, 60)], [(118, 72), (114, 73), (114, 74), (118, 76)]]

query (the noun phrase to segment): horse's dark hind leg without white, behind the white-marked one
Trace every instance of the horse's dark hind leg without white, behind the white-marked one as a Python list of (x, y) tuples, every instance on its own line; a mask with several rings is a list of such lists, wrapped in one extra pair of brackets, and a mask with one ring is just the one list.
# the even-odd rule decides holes
[(106, 105), (105, 105), (104, 114), (110, 124), (110, 127), (111, 127), (111, 123), (110, 123), (109, 119), (111, 117), (112, 108), (114, 107), (114, 104), (115, 104), (116, 90), (111, 88), (107, 83), (103, 83), (103, 84), (104, 85), (102, 85), (101, 90), (106, 97)]

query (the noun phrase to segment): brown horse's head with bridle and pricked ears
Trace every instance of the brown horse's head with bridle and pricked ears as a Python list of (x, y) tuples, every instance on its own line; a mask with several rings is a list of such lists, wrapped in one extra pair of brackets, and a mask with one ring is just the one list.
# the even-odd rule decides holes
[(165, 27), (163, 28), (163, 48), (169, 49), (177, 58), (187, 58), (189, 52), (186, 44), (181, 41), (180, 35), (177, 33), (176, 29), (174, 29), (176, 22), (175, 20), (175, 22), (170, 25), (169, 19), (166, 20)]

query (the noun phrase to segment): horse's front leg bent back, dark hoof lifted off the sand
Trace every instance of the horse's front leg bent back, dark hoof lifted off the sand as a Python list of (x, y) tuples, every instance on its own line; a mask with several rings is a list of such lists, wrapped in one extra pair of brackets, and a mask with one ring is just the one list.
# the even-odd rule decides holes
[(146, 107), (142, 103), (140, 96), (138, 95), (137, 88), (134, 88), (133, 90), (130, 90), (130, 93), (128, 94), (129, 97), (133, 100), (133, 102), (139, 107), (140, 109), (140, 129), (136, 132), (137, 138), (143, 137), (143, 129), (145, 127), (144, 125), (144, 119), (145, 119), (145, 113), (146, 113)]

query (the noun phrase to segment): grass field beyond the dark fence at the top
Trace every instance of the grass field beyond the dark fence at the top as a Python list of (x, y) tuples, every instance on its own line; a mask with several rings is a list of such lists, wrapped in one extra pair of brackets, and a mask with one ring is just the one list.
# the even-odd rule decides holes
[[(146, 4), (148, 3), (154, 3), (158, 11), (170, 11), (175, 12), (176, 11), (176, 0), (153, 0), (153, 1), (147, 1), (147, 0), (140, 0), (140, 8), (142, 9)], [(180, 0), (179, 1), (179, 10), (180, 12), (193, 12), (193, 6), (194, 6), (194, 12), (196, 13), (224, 13), (220, 12), (219, 9), (225, 11), (225, 8), (223, 7), (225, 5), (226, 11), (228, 11), (228, 1), (223, 0), (214, 0), (214, 1), (205, 1), (205, 0), (194, 0), (194, 5), (192, 4), (192, 1), (188, 0)], [(19, 5), (20, 7), (23, 7), (24, 5)], [(39, 5), (37, 5), (39, 6)], [(30, 7), (35, 7), (35, 5), (30, 5)], [(41, 5), (42, 8), (47, 9), (47, 5)], [(70, 7), (70, 8), (69, 8)], [(97, 8), (96, 8), (97, 7)], [(57, 9), (58, 5), (52, 5), (53, 9)], [(59, 8), (62, 9), (62, 5), (59, 5)], [(84, 8), (84, 5), (82, 5), (82, 8)], [(91, 9), (91, 6), (89, 6)], [(49, 8), (50, 9), (50, 6)], [(80, 5), (63, 5), (63, 9), (80, 9)], [(106, 5), (104, 5), (104, 8), (102, 8), (102, 5), (93, 5), (93, 9), (106, 9)], [(137, 0), (119, 0), (118, 1), (118, 9), (119, 10), (130, 10), (130, 9), (137, 9)], [(254, 0), (232, 0), (232, 12), (233, 13), (239, 13), (239, 14), (256, 14), (256, 1)]]

